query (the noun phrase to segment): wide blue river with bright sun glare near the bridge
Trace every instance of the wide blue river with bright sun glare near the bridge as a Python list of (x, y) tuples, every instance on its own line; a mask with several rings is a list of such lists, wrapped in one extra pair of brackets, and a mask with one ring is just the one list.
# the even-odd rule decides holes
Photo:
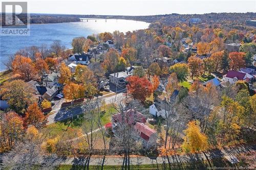
[(81, 22), (49, 23), (30, 25), (30, 36), (1, 36), (0, 37), (0, 71), (6, 68), (3, 62), (8, 55), (15, 54), (21, 48), (32, 45), (47, 44), (48, 47), (54, 40), (60, 40), (63, 45), (71, 48), (74, 37), (98, 34), (101, 32), (120, 32), (146, 29), (150, 23), (124, 19), (88, 19)]

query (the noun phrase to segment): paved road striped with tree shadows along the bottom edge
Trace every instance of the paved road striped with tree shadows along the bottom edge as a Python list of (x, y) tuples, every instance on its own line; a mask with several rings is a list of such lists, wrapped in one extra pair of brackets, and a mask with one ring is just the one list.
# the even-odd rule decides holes
[[(176, 165), (181, 165), (184, 163), (190, 163), (190, 164), (195, 164), (195, 162), (203, 162), (203, 161), (208, 161), (210, 165), (211, 159), (216, 159), (216, 158), (234, 158), (242, 153), (248, 153), (251, 151), (256, 150), (256, 145), (251, 145), (251, 146), (241, 146), (241, 147), (236, 147), (236, 148), (227, 148), (224, 150), (214, 150), (210, 152), (205, 152), (205, 153), (200, 153), (200, 154), (188, 154), (188, 155), (173, 155), (169, 156), (169, 162), (176, 164)], [(133, 165), (141, 165), (141, 164), (163, 164), (166, 163), (168, 164), (168, 159), (166, 157), (145, 157), (145, 156), (140, 156), (140, 157), (132, 157), (131, 158), (131, 163)], [(86, 160), (84, 158), (68, 158), (66, 160), (63, 160), (61, 164), (79, 164), (79, 165), (84, 165), (84, 162)], [(102, 158), (91, 158), (90, 159), (90, 165), (101, 165), (102, 163)], [(123, 163), (123, 158), (122, 157), (115, 157), (115, 158), (105, 158), (104, 165), (122, 165)], [(204, 162), (205, 163), (205, 162)]]

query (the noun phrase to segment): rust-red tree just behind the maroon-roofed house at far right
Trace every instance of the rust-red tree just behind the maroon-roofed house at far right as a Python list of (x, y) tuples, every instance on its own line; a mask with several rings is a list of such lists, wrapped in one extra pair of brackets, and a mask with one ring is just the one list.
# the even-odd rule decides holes
[(231, 52), (229, 53), (229, 59), (230, 59), (230, 68), (232, 70), (238, 70), (242, 67), (245, 67), (245, 53), (243, 52)]

